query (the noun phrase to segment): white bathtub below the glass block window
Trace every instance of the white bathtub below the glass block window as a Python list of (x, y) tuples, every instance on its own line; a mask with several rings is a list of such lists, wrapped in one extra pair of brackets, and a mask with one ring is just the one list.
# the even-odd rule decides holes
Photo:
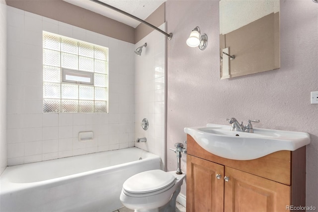
[(136, 147), (7, 167), (1, 212), (113, 212), (126, 179), (160, 169), (160, 157)]

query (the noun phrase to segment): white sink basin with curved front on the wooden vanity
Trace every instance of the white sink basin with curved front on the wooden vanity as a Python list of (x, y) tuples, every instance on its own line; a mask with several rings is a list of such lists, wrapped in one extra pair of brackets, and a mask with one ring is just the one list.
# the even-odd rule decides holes
[(310, 143), (306, 132), (254, 128), (253, 133), (231, 131), (231, 125), (185, 127), (184, 132), (208, 152), (233, 160), (252, 160), (280, 150), (294, 151)]

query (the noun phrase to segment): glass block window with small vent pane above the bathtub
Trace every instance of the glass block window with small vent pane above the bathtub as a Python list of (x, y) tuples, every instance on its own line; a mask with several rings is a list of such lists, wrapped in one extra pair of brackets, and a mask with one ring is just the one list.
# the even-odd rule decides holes
[(108, 112), (108, 48), (43, 31), (43, 112)]

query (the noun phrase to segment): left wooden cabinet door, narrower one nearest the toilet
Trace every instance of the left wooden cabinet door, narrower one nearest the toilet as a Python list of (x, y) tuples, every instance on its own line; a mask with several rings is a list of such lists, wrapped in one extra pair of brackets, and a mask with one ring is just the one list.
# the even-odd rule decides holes
[(223, 212), (223, 178), (224, 166), (187, 155), (187, 212)]

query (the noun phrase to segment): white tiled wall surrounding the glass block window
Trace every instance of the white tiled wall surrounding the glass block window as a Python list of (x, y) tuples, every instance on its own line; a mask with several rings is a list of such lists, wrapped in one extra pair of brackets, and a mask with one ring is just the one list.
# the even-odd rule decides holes
[[(2, 7), (1, 4), (1, 15), (5, 17)], [(7, 84), (7, 164), (10, 166), (134, 146), (134, 44), (17, 8), (5, 7), (7, 22), (2, 21), (1, 16), (0, 28), (2, 39), (5, 36), (2, 24), (7, 23), (6, 69), (2, 67), (5, 58), (1, 57), (1, 76), (5, 74), (3, 70), (7, 70), (8, 79), (5, 82), (1, 77), (1, 85)], [(109, 48), (108, 114), (43, 114), (42, 30)], [(3, 48), (1, 43), (1, 52)], [(1, 121), (1, 136), (2, 129)], [(79, 131), (90, 130), (94, 132), (93, 141), (79, 142)]]

